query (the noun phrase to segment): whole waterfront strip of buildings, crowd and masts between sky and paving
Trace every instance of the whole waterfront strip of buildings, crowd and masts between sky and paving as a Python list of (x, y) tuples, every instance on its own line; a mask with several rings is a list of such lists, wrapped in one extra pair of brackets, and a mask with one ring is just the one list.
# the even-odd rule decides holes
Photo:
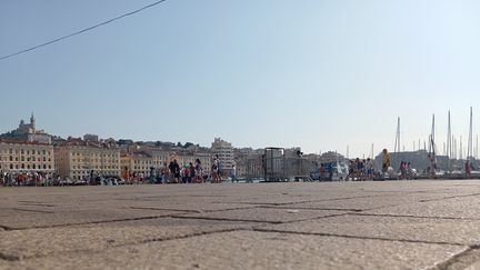
[(346, 158), (337, 151), (306, 154), (300, 147), (234, 148), (221, 138), (214, 138), (210, 148), (192, 142), (100, 139), (91, 133), (62, 139), (39, 130), (32, 112), (30, 122), (20, 120), (16, 130), (0, 134), (0, 186), (479, 179), (472, 136), (466, 157), (462, 147), (459, 157), (453, 154), (457, 150), (449, 143), (442, 156), (434, 130), (433, 116), (429, 148), (424, 143), (424, 149), (401, 151), (399, 118), (392, 153), (383, 149), (376, 156), (372, 144), (370, 157), (350, 159), (349, 150)]

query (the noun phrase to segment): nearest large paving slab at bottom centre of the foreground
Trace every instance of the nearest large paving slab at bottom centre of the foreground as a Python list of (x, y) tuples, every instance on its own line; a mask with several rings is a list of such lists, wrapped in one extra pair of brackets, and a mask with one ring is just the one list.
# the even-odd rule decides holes
[(34, 269), (426, 269), (448, 244), (238, 231), (11, 262)]

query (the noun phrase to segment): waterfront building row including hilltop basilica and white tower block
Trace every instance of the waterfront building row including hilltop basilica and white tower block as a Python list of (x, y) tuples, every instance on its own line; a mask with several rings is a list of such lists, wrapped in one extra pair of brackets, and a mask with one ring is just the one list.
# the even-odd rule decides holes
[(114, 141), (99, 141), (98, 136), (86, 134), (83, 139), (69, 138), (52, 143), (51, 137), (36, 129), (33, 113), (30, 123), (20, 121), (11, 134), (20, 140), (0, 139), (0, 171), (3, 173), (41, 172), (54, 173), (61, 178), (83, 179), (91, 171), (102, 176), (123, 177), (138, 173), (149, 176), (170, 161), (180, 167), (200, 160), (204, 171), (210, 171), (212, 157), (222, 161), (223, 171), (233, 166), (231, 143), (216, 138), (211, 149), (162, 149), (161, 147), (130, 144), (121, 147)]

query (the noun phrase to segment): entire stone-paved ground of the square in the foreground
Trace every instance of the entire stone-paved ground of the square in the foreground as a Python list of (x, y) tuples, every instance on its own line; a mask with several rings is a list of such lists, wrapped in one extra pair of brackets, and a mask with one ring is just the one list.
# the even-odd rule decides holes
[(480, 181), (0, 188), (0, 269), (480, 269)]

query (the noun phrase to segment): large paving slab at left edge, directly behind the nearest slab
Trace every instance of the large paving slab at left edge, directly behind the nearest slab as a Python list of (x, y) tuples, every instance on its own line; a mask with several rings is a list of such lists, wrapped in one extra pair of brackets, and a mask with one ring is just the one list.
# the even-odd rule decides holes
[(62, 252), (183, 238), (214, 231), (248, 229), (258, 223), (159, 218), (91, 226), (0, 231), (0, 254), (9, 258), (60, 256)]

